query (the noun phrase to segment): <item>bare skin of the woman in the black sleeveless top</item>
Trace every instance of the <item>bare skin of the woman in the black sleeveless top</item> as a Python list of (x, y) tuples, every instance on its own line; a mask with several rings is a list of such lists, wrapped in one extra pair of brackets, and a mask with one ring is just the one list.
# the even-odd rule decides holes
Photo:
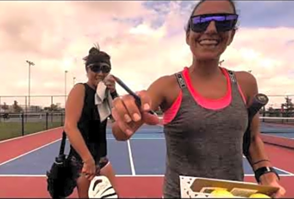
[[(96, 90), (98, 83), (100, 81), (104, 81), (105, 85), (110, 89), (110, 91), (114, 92), (115, 80), (112, 76), (105, 78), (108, 74), (109, 73), (102, 72), (95, 73), (91, 69), (87, 69), (87, 84)], [(64, 122), (64, 130), (68, 136), (68, 139), (84, 163), (81, 176), (77, 179), (79, 198), (88, 198), (90, 181), (95, 177), (96, 174), (95, 161), (84, 142), (81, 132), (77, 127), (77, 123), (81, 117), (84, 105), (84, 96), (84, 85), (76, 84), (70, 91), (66, 101)], [(115, 174), (110, 163), (100, 170), (100, 175), (106, 176), (110, 180), (113, 188), (117, 191)]]

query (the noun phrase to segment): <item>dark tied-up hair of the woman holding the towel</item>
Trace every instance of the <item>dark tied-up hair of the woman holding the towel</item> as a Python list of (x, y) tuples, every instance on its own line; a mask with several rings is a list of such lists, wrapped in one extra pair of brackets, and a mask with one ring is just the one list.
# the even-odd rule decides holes
[(111, 67), (110, 56), (104, 51), (100, 51), (99, 45), (95, 45), (89, 50), (89, 55), (84, 57), (85, 66), (93, 63), (107, 63)]

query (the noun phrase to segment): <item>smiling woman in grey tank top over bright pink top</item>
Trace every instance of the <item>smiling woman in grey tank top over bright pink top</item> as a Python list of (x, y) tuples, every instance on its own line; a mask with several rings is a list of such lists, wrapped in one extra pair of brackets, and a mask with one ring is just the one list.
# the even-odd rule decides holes
[[(247, 107), (258, 87), (252, 74), (219, 66), (221, 54), (235, 36), (237, 19), (232, 0), (201, 0), (186, 29), (191, 65), (139, 92), (142, 107), (137, 107), (130, 95), (114, 100), (113, 134), (117, 140), (130, 139), (144, 123), (158, 124), (157, 116), (148, 111), (158, 106), (163, 110), (167, 148), (164, 198), (180, 197), (179, 175), (244, 179), (242, 144)], [(254, 171), (259, 171), (257, 180), (280, 188), (275, 197), (283, 196), (285, 190), (260, 138), (258, 115), (252, 122), (251, 135), (250, 162)]]

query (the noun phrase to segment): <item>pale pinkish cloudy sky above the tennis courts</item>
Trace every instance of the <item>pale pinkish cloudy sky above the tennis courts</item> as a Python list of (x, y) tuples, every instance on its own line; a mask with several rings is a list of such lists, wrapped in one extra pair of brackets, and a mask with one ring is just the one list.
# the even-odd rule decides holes
[[(190, 65), (184, 26), (196, 2), (0, 1), (0, 96), (27, 95), (25, 60), (35, 63), (31, 95), (63, 95), (65, 70), (67, 92), (73, 77), (86, 81), (82, 58), (94, 43), (111, 55), (113, 74), (133, 90), (146, 89)], [(237, 1), (239, 30), (222, 56), (223, 66), (252, 70), (260, 92), (294, 94), (293, 8), (294, 1)], [(50, 104), (49, 98), (31, 101)]]

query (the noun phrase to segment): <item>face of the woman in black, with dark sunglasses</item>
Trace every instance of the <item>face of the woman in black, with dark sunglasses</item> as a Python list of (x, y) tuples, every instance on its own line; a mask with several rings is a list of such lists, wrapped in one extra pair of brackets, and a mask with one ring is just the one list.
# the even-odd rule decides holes
[(104, 65), (102, 68), (103, 69), (99, 67), (99, 64), (87, 67), (89, 83), (95, 87), (97, 87), (98, 83), (103, 81), (110, 72), (110, 67)]

